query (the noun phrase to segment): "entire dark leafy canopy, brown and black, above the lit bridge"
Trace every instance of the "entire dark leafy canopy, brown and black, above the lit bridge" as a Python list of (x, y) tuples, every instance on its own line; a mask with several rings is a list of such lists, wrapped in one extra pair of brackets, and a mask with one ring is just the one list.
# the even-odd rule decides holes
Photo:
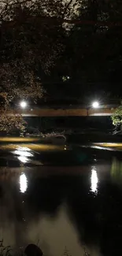
[[(52, 95), (59, 95), (59, 87), (54, 85), (58, 82), (60, 95), (62, 90), (63, 95), (83, 97), (86, 91), (87, 94), (95, 91), (96, 83), (98, 90), (105, 91), (106, 83), (112, 90), (111, 83), (122, 80), (120, 0), (4, 0), (0, 3), (3, 116), (10, 102), (43, 97), (42, 74), (49, 74), (55, 63), (49, 78)], [(0, 119), (2, 123), (3, 118)]]

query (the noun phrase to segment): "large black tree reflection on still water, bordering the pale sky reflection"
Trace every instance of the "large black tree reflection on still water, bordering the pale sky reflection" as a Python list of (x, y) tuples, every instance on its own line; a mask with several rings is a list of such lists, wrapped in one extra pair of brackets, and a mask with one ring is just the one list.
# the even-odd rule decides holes
[(121, 254), (120, 190), (106, 179), (99, 186), (98, 195), (94, 195), (89, 192), (87, 180), (87, 176), (48, 176), (33, 180), (27, 195), (28, 207), (36, 216), (50, 213), (55, 217), (65, 202), (82, 244), (98, 245), (104, 255), (115, 255), (116, 250)]

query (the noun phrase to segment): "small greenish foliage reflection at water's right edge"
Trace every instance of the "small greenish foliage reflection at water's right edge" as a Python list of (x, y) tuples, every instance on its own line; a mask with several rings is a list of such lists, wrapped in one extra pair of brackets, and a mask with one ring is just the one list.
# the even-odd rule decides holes
[(111, 176), (114, 182), (122, 183), (122, 161), (118, 161), (117, 158), (113, 158)]

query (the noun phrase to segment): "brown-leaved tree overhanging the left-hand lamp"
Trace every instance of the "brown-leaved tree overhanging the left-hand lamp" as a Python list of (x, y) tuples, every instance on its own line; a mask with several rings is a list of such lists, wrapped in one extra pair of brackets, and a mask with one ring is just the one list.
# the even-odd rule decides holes
[[(72, 5), (73, 2), (73, 5)], [(64, 49), (66, 36), (61, 23), (46, 24), (49, 17), (69, 17), (75, 0), (2, 2), (0, 9), (0, 130), (24, 128), (20, 115), (7, 116), (10, 103), (20, 98), (43, 97), (41, 70), (46, 73)], [(42, 19), (40, 19), (42, 18)], [(12, 124), (12, 125), (10, 125)]]

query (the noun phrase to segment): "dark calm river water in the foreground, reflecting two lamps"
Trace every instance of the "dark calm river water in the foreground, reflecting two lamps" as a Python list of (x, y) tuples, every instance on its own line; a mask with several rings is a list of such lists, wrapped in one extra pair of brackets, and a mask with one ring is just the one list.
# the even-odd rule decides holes
[(121, 154), (22, 151), (1, 151), (4, 244), (36, 243), (49, 256), (121, 255)]

